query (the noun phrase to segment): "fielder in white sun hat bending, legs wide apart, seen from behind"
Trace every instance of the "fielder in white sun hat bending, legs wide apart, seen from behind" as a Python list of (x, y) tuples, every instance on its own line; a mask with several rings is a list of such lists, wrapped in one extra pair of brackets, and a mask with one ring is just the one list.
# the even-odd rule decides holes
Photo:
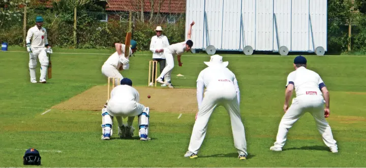
[[(191, 141), (185, 157), (196, 158), (206, 136), (207, 122), (216, 109), (222, 105), (229, 113), (234, 145), (240, 160), (247, 159), (247, 141), (244, 125), (240, 117), (240, 92), (235, 75), (226, 68), (229, 62), (223, 62), (222, 56), (212, 55), (208, 67), (200, 72), (197, 79), (197, 102), (199, 111), (193, 126)], [(203, 96), (203, 89), (206, 91)]]

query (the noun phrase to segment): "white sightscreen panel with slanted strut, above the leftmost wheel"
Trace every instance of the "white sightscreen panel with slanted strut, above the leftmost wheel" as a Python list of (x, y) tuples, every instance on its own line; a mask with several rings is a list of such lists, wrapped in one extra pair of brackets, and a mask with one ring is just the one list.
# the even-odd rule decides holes
[[(205, 34), (204, 46), (214, 45), (215, 48), (221, 47), (221, 35), (222, 35), (222, 16), (223, 16), (223, 0), (206, 0), (206, 14), (207, 14), (207, 24), (208, 37)], [(208, 39), (207, 39), (208, 38)], [(208, 40), (208, 44), (206, 44)]]

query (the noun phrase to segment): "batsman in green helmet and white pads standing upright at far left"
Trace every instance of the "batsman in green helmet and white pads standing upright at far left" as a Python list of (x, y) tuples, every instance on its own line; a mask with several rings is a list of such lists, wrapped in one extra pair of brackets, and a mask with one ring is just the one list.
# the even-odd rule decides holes
[(36, 17), (36, 25), (29, 28), (26, 41), (26, 49), (29, 52), (29, 75), (31, 76), (31, 82), (37, 83), (36, 80), (36, 67), (37, 57), (41, 64), (41, 76), (40, 82), (46, 83), (47, 68), (49, 65), (49, 59), (47, 53), (52, 53), (51, 46), (48, 45), (46, 28), (42, 27), (42, 16)]

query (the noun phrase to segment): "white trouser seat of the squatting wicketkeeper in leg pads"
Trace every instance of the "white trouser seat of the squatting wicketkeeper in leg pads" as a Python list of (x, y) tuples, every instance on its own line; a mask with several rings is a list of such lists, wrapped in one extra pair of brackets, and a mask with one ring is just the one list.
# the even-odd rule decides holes
[(134, 100), (110, 99), (107, 105), (108, 113), (113, 117), (133, 117), (140, 115), (145, 106)]

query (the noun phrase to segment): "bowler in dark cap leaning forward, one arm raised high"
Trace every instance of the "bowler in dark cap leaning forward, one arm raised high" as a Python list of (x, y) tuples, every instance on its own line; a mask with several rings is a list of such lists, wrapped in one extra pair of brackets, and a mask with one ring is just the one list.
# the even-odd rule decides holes
[(159, 82), (161, 84), (165, 84), (169, 88), (174, 88), (171, 85), (171, 83), (169, 83), (168, 81), (163, 81), (163, 78), (168, 73), (171, 73), (171, 71), (174, 68), (173, 55), (177, 55), (178, 65), (182, 66), (183, 63), (181, 63), (181, 61), (180, 61), (181, 54), (184, 53), (185, 51), (190, 51), (193, 46), (193, 42), (191, 40), (191, 35), (192, 35), (192, 26), (194, 24), (195, 24), (194, 21), (192, 21), (192, 23), (190, 24), (190, 28), (188, 29), (188, 33), (187, 33), (187, 37), (188, 37), (187, 41), (175, 43), (175, 44), (172, 44), (163, 49), (165, 60), (166, 60), (166, 66), (165, 66), (163, 72), (160, 74), (160, 76), (156, 79), (157, 82)]

